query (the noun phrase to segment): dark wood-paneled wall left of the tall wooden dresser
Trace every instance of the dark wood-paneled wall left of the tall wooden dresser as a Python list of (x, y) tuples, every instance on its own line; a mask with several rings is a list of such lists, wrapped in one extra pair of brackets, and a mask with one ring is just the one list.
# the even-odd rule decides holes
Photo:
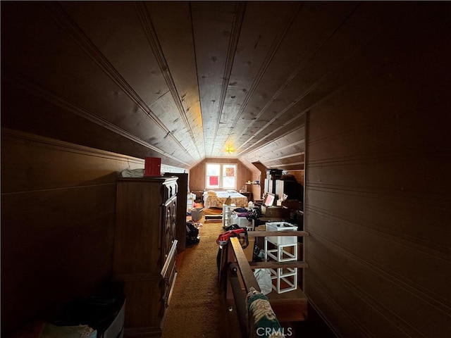
[(2, 128), (2, 337), (104, 286), (126, 168), (144, 161)]

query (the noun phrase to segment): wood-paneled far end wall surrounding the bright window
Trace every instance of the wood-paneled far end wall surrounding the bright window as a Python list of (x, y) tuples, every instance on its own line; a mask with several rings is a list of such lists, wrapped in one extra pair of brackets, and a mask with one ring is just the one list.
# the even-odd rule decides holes
[(190, 189), (192, 192), (205, 189), (205, 164), (206, 163), (236, 163), (237, 164), (237, 191), (252, 178), (252, 172), (236, 158), (205, 158), (190, 168)]

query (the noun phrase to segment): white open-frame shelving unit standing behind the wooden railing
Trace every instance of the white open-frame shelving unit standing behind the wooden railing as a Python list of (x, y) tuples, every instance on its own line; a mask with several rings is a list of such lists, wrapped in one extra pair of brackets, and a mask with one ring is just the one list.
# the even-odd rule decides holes
[[(266, 223), (266, 231), (297, 230), (297, 226), (285, 222)], [(265, 261), (297, 261), (296, 236), (268, 236), (264, 239)], [(297, 268), (269, 269), (273, 289), (278, 294), (289, 292), (297, 288)]]

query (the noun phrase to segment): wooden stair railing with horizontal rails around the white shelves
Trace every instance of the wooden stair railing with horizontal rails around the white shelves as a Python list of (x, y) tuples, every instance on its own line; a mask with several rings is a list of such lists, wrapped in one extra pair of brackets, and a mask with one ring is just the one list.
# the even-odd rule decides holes
[[(266, 237), (266, 236), (308, 236), (304, 231), (250, 231), (248, 237)], [(253, 248), (251, 248), (253, 249)], [(247, 294), (252, 289), (261, 291), (259, 284), (254, 276), (254, 269), (257, 268), (307, 268), (308, 265), (302, 261), (288, 262), (249, 262), (242, 249), (240, 239), (231, 237), (226, 246), (223, 246), (218, 256), (218, 284), (224, 292), (226, 303), (231, 309), (236, 311), (240, 332), (242, 337), (257, 337), (254, 327), (254, 318), (247, 311)], [(271, 303), (271, 300), (270, 300)], [(285, 299), (285, 303), (287, 301)], [(289, 302), (288, 302), (289, 304)], [(272, 303), (271, 303), (272, 306)], [(286, 307), (287, 305), (284, 305)], [(289, 306), (289, 305), (288, 305)], [(307, 309), (307, 299), (306, 306)], [(273, 308), (274, 310), (274, 308)], [(278, 316), (278, 313), (276, 316)], [(305, 318), (306, 313), (302, 313)]]

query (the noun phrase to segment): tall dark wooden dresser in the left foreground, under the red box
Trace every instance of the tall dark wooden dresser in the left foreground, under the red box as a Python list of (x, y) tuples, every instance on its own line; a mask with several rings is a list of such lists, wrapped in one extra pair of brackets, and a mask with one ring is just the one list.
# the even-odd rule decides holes
[(125, 337), (160, 337), (177, 275), (178, 177), (117, 181), (113, 275), (126, 297)]

